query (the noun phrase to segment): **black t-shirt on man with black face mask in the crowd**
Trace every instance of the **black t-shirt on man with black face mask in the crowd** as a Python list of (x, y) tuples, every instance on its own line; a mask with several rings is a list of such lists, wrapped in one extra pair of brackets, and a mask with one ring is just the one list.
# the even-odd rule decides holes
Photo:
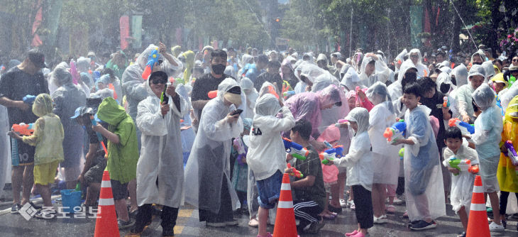
[[(221, 82), (223, 82), (226, 78), (235, 79), (229, 75), (224, 74), (220, 78), (213, 77), (210, 73), (203, 75), (196, 79), (194, 82), (194, 86), (192, 86), (192, 95), (191, 101), (199, 101), (199, 100), (209, 100), (209, 92), (215, 91), (218, 89), (218, 86)], [(194, 113), (198, 118), (202, 116), (203, 109), (194, 109)]]

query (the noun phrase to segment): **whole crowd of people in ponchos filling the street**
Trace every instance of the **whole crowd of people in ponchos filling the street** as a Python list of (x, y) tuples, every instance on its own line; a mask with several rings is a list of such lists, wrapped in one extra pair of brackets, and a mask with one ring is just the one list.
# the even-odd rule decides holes
[[(82, 205), (95, 207), (108, 170), (119, 228), (131, 233), (159, 215), (162, 236), (173, 236), (187, 203), (206, 226), (236, 226), (241, 211), (258, 236), (271, 236), (267, 225), (289, 173), (302, 233), (318, 233), (350, 208), (358, 228), (346, 236), (363, 237), (403, 202), (412, 230), (435, 228), (447, 202), (466, 229), (475, 174), (449, 165), (459, 159), (480, 170), (490, 230), (502, 231), (509, 192), (518, 192), (518, 164), (504, 145), (518, 145), (518, 56), (495, 59), (478, 48), (472, 55), (404, 49), (389, 59), (380, 50), (182, 52), (158, 43), (133, 60), (119, 51), (101, 62), (90, 52), (49, 67), (29, 50), (0, 77), (11, 214), (30, 203), (36, 217), (54, 218), (58, 182), (81, 184)], [(452, 119), (473, 124), (474, 133)], [(398, 121), (404, 135), (387, 141)], [(11, 130), (21, 123), (31, 133)], [(287, 141), (305, 152), (287, 153)], [(329, 148), (343, 154), (322, 162)]]

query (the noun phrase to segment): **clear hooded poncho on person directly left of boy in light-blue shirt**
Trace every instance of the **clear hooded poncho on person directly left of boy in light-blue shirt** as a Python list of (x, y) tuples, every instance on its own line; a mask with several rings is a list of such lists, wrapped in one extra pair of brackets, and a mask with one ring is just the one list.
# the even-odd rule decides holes
[(399, 146), (387, 143), (383, 133), (396, 121), (392, 99), (387, 86), (376, 82), (365, 93), (375, 105), (369, 112), (368, 134), (373, 144), (373, 182), (376, 184), (397, 184), (399, 174)]

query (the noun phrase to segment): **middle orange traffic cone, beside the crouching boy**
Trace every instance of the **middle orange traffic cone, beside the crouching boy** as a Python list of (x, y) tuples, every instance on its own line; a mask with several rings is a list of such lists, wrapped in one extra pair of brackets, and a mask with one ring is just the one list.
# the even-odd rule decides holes
[(292, 187), (290, 187), (290, 175), (282, 176), (280, 186), (279, 203), (277, 204), (277, 216), (273, 227), (273, 236), (297, 237), (297, 224), (293, 211)]

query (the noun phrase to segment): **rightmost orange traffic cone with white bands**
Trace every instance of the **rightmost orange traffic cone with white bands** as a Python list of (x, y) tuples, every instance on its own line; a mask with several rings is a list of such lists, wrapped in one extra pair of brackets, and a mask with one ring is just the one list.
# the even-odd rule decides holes
[(484, 189), (480, 175), (475, 177), (473, 196), (471, 197), (470, 216), (468, 220), (468, 237), (490, 237), (489, 224), (487, 224), (487, 213), (485, 211)]

